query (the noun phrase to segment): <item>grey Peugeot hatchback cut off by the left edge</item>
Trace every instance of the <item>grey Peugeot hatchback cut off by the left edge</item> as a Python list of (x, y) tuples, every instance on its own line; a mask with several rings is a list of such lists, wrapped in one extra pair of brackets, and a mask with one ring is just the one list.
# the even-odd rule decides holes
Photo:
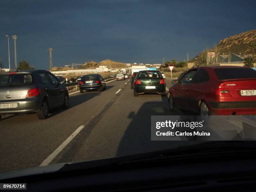
[(46, 119), (49, 109), (68, 108), (67, 87), (46, 70), (0, 74), (0, 118), (3, 114), (36, 113)]

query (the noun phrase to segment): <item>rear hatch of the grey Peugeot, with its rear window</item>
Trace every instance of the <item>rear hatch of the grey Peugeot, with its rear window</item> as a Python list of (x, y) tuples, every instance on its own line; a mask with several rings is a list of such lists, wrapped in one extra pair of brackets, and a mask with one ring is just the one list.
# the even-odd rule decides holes
[(0, 101), (22, 100), (33, 88), (33, 78), (29, 73), (13, 72), (0, 75)]

